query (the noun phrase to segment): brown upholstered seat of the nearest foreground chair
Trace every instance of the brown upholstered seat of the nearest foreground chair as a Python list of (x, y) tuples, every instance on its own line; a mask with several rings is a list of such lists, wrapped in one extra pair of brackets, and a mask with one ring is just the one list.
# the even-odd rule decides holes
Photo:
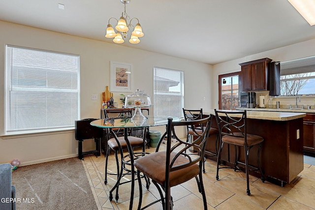
[[(176, 152), (171, 153), (172, 159)], [(159, 184), (164, 185), (165, 182), (165, 163), (166, 151), (159, 151), (149, 155), (145, 155), (134, 161), (134, 166), (144, 174), (148, 175), (152, 180), (157, 181)], [(184, 155), (180, 155), (174, 166), (188, 163), (189, 160)], [(198, 164), (193, 164), (184, 169), (170, 172), (170, 186), (175, 186), (185, 181), (188, 181), (199, 174)]]

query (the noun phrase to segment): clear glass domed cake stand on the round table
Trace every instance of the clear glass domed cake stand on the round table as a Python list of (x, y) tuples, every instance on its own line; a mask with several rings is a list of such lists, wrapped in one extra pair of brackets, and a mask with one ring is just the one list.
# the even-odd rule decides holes
[(153, 106), (153, 104), (151, 103), (150, 95), (140, 91), (139, 89), (137, 89), (135, 93), (126, 96), (125, 107), (135, 108), (131, 121), (136, 125), (141, 125), (147, 120), (147, 118), (142, 114), (141, 108), (151, 106)]

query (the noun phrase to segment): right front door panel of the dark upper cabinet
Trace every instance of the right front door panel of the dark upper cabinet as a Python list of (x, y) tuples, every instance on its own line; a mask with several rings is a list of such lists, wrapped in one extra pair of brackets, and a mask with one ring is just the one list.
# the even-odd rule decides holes
[(252, 88), (253, 90), (266, 90), (265, 62), (252, 64)]

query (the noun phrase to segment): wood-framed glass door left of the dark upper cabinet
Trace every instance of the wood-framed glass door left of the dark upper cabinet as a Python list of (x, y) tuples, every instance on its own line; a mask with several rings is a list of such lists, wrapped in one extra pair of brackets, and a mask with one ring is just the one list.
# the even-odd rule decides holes
[(240, 72), (219, 75), (219, 109), (235, 110), (239, 107), (239, 74)]

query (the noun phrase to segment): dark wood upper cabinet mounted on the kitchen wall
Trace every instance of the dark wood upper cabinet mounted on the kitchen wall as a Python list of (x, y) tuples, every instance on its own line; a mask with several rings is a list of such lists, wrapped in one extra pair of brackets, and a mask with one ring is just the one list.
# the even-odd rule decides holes
[(271, 59), (264, 58), (240, 63), (242, 74), (242, 91), (268, 90), (268, 67)]

